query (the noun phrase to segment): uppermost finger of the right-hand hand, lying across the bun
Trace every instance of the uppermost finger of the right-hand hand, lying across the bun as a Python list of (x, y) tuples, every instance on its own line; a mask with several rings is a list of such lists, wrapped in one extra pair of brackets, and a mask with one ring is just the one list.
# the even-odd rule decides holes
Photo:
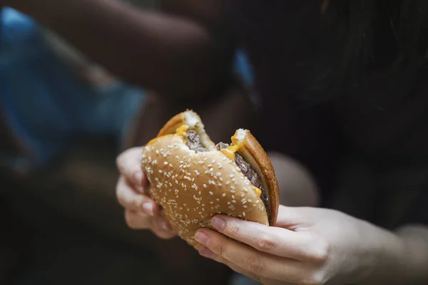
[(327, 259), (327, 242), (310, 232), (292, 232), (223, 215), (213, 217), (211, 225), (225, 236), (260, 252), (298, 261), (321, 262)]

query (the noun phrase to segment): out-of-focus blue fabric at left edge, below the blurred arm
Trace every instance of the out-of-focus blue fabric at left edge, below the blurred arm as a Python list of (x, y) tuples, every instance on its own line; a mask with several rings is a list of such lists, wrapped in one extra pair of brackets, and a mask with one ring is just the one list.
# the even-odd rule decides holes
[(128, 86), (73, 50), (31, 17), (1, 9), (0, 107), (19, 150), (0, 150), (2, 168), (48, 167), (87, 135), (115, 138), (120, 149), (143, 103)]

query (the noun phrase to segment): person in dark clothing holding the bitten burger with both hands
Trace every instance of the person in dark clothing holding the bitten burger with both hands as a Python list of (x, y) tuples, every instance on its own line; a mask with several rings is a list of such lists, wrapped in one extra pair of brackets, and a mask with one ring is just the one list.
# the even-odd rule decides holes
[[(427, 283), (425, 1), (171, 1), (170, 16), (43, 1), (10, 4), (170, 104), (218, 93), (235, 47), (247, 51), (263, 103), (256, 136), (302, 166), (316, 183), (305, 194), (320, 199), (292, 204), (287, 192), (271, 228), (217, 217), (220, 234), (197, 236), (203, 256), (263, 284)], [(128, 224), (173, 237), (138, 161), (137, 150), (118, 160)]]

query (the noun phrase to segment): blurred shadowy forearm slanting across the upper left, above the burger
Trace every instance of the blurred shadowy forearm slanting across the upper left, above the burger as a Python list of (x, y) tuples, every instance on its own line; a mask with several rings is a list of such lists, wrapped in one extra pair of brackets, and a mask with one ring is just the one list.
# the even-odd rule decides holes
[(228, 65), (230, 55), (217, 38), (184, 17), (141, 11), (116, 0), (13, 0), (11, 6), (116, 76), (159, 94), (205, 93)]

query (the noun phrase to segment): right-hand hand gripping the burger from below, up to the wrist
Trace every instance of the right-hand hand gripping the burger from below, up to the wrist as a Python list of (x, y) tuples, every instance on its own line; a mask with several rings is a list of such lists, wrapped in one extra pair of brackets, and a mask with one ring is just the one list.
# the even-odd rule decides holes
[(341, 212), (280, 207), (275, 227), (216, 216), (200, 229), (200, 254), (263, 284), (354, 284), (394, 235)]

